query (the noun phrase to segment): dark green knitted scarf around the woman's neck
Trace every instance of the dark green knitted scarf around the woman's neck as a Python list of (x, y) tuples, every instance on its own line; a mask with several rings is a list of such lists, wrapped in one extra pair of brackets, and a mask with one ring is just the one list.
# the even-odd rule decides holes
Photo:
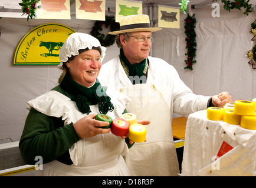
[(71, 93), (71, 100), (76, 102), (78, 109), (82, 113), (91, 113), (88, 102), (94, 105), (99, 104), (100, 113), (106, 114), (114, 110), (113, 104), (110, 102), (110, 97), (107, 96), (106, 92), (101, 88), (100, 82), (96, 79), (96, 83), (90, 88), (86, 88), (83, 85), (75, 82), (69, 73), (66, 73), (60, 86)]

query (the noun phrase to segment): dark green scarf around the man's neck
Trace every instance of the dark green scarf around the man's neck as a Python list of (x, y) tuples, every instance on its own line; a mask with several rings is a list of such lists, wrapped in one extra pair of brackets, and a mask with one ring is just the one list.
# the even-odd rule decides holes
[(120, 49), (120, 59), (124, 62), (124, 64), (129, 68), (129, 76), (143, 76), (143, 70), (146, 66), (146, 60), (144, 59), (140, 63), (134, 63), (133, 65), (127, 60), (126, 56), (124, 56), (123, 49)]

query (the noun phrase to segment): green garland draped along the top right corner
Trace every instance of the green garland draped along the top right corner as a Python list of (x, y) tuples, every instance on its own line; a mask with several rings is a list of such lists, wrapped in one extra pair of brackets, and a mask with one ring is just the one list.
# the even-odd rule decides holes
[[(213, 0), (213, 1), (218, 1), (218, 0)], [(224, 3), (224, 9), (230, 12), (231, 9), (238, 9), (241, 11), (241, 8), (244, 8), (244, 15), (249, 15), (249, 12), (252, 12), (251, 10), (251, 4), (248, 4), (250, 0), (235, 0), (234, 2), (232, 1), (227, 1), (227, 0), (221, 0), (222, 3)]]

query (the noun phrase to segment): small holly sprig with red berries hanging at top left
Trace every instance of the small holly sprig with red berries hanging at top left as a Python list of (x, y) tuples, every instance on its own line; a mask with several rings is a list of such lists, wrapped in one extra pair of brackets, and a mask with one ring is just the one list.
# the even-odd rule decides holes
[(37, 5), (37, 3), (39, 2), (40, 0), (22, 0), (21, 3), (19, 3), (19, 5), (21, 5), (22, 7), (22, 12), (24, 14), (27, 14), (28, 17), (27, 17), (27, 21), (29, 18), (33, 18), (33, 17), (37, 17), (37, 15), (35, 14), (35, 11), (38, 9), (38, 8), (41, 8), (41, 5)]

